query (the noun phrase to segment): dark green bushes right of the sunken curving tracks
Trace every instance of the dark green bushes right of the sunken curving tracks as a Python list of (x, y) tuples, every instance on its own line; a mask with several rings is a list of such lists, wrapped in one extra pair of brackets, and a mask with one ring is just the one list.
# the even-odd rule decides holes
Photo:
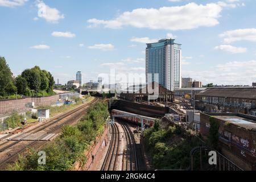
[(164, 129), (159, 121), (145, 131), (144, 143), (154, 169), (187, 169), (192, 148), (200, 146), (199, 139), (180, 126), (172, 125)]

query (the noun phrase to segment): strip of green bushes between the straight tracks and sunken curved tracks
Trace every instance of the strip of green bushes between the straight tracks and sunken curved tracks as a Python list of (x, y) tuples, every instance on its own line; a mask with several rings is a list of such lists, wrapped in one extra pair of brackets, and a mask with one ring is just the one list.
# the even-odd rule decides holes
[(105, 119), (108, 116), (107, 104), (98, 102), (96, 105), (90, 106), (88, 114), (76, 126), (63, 127), (60, 137), (40, 149), (40, 151), (46, 152), (46, 165), (39, 165), (38, 151), (28, 148), (9, 169), (65, 171), (72, 169), (76, 161), (85, 164), (84, 151), (97, 135), (104, 131)]

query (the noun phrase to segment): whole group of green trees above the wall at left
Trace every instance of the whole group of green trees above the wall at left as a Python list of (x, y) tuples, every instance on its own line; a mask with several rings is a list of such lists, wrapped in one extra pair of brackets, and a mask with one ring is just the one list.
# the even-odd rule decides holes
[(38, 66), (25, 69), (14, 78), (4, 57), (0, 57), (0, 99), (16, 96), (52, 96), (54, 78), (50, 72)]

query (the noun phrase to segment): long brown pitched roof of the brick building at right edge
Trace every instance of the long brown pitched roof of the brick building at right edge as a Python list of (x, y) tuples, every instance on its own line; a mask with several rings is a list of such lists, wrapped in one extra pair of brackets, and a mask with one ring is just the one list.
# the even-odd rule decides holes
[(256, 100), (256, 87), (208, 88), (197, 96), (232, 97)]

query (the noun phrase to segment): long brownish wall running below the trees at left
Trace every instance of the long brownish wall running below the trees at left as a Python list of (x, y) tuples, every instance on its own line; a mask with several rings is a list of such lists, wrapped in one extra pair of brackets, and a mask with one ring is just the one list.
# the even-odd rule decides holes
[(35, 106), (52, 105), (59, 100), (59, 94), (49, 97), (26, 97), (18, 100), (0, 100), (0, 114), (13, 113), (13, 111), (26, 110), (26, 105), (35, 102)]

